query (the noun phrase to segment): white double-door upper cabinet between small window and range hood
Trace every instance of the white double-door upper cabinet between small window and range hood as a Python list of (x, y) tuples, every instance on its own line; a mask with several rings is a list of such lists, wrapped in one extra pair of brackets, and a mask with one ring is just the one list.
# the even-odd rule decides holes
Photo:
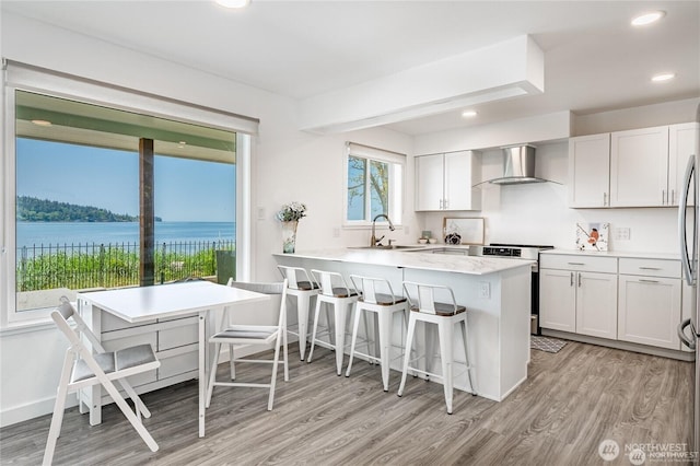
[(416, 158), (416, 210), (479, 210), (479, 153), (448, 152)]

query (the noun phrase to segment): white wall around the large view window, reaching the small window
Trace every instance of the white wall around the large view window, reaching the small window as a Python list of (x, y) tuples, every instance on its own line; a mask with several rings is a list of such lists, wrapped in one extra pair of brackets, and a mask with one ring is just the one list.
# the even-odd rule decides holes
[[(369, 242), (366, 230), (331, 237), (341, 221), (346, 140), (411, 153), (412, 140), (405, 135), (383, 129), (337, 137), (301, 132), (290, 98), (7, 12), (1, 21), (4, 58), (260, 119), (253, 140), (253, 279), (279, 279), (271, 254), (281, 252), (281, 230), (273, 214), (292, 200), (308, 205), (299, 247)], [(259, 220), (258, 208), (264, 210)], [(415, 215), (407, 214), (406, 222), (410, 226)], [(7, 296), (0, 295), (0, 302)], [(50, 412), (65, 348), (51, 326), (0, 329), (0, 426)]]

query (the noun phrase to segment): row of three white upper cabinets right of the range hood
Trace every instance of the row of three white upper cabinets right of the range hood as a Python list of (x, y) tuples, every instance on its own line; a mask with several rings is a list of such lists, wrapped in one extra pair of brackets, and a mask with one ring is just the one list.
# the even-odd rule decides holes
[(677, 206), (698, 124), (569, 140), (570, 207)]

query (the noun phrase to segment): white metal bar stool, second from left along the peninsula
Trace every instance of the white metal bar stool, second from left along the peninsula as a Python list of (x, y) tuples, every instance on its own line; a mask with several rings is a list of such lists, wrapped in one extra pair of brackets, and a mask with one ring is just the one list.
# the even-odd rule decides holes
[[(336, 369), (338, 375), (340, 375), (342, 373), (342, 360), (345, 354), (346, 319), (348, 317), (348, 308), (352, 310), (352, 305), (358, 301), (358, 292), (348, 287), (342, 275), (338, 272), (313, 269), (311, 275), (314, 277), (314, 280), (316, 280), (320, 291), (318, 295), (316, 295), (314, 331), (311, 337), (308, 362), (311, 362), (311, 359), (314, 356), (315, 345), (335, 350)], [(320, 314), (320, 305), (323, 303), (331, 305), (334, 310), (335, 343), (334, 333), (330, 331), (330, 328), (328, 328), (327, 331), (329, 342), (316, 338), (318, 330), (318, 314)], [(330, 327), (330, 322), (328, 322), (328, 327)]]

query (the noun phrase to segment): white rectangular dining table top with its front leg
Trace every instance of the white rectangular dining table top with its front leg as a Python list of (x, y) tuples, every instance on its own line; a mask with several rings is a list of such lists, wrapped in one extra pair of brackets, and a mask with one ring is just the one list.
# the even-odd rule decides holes
[[(205, 399), (207, 391), (207, 322), (210, 312), (244, 306), (269, 300), (267, 294), (217, 284), (209, 281), (124, 288), (78, 293), (80, 313), (94, 308), (109, 313), (129, 324), (156, 318), (198, 315), (199, 340), (199, 436), (205, 436)], [(221, 321), (221, 319), (220, 319)], [(217, 324), (214, 324), (217, 325)], [(93, 329), (94, 330), (94, 329)]]

